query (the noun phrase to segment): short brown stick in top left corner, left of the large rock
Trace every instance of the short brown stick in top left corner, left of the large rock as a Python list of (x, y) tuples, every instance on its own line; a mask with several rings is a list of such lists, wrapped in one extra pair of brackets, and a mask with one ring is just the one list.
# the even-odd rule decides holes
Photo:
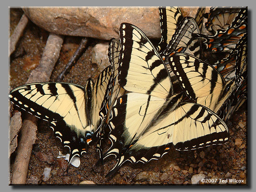
[(12, 36), (9, 38), (9, 53), (8, 57), (14, 52), (16, 44), (18, 43), (20, 37), (22, 36), (22, 33), (25, 29), (25, 27), (28, 24), (28, 17), (23, 14), (22, 17), (20, 18), (20, 21), (16, 28), (14, 29), (14, 32), (12, 33)]

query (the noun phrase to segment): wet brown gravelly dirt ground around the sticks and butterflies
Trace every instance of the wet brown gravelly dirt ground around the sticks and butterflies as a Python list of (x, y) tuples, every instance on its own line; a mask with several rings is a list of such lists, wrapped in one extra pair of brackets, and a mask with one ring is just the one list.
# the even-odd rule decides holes
[[(21, 9), (10, 9), (10, 35), (22, 14)], [(39, 64), (48, 34), (32, 22), (28, 24), (15, 53), (10, 58), (10, 90), (24, 84), (30, 71)], [(77, 49), (80, 41), (81, 37), (65, 37), (51, 81), (65, 68), (65, 64)], [(98, 42), (106, 41), (93, 40), (63, 82), (85, 85), (87, 78), (91, 77), (97, 68), (96, 64), (91, 63), (91, 52), (92, 47)], [(93, 78), (98, 73), (96, 72)], [(172, 148), (158, 161), (153, 160), (147, 164), (137, 163), (135, 165), (125, 163), (110, 179), (104, 176), (114, 167), (116, 161), (110, 158), (105, 161), (104, 165), (96, 166), (98, 154), (95, 143), (90, 143), (88, 153), (81, 157), (80, 167), (70, 165), (67, 173), (67, 161), (58, 159), (57, 156), (59, 156), (59, 151), (62, 154), (69, 151), (63, 148), (59, 139), (53, 136), (52, 129), (45, 121), (39, 120), (37, 124), (37, 140), (33, 146), (26, 184), (79, 184), (84, 180), (89, 180), (99, 185), (176, 185), (191, 184), (192, 176), (197, 174), (204, 174), (205, 179), (209, 181), (200, 184), (220, 184), (221, 179), (228, 179), (226, 184), (247, 183), (247, 102), (226, 123), (230, 131), (228, 143), (184, 152)], [(105, 140), (104, 150), (109, 145), (110, 141)], [(42, 156), (47, 157), (48, 163), (42, 160)], [(10, 157), (10, 180), (12, 180), (15, 157), (16, 152)], [(48, 180), (45, 180), (43, 171), (47, 167), (51, 168), (51, 175)], [(235, 180), (243, 180), (243, 182), (235, 182)]]

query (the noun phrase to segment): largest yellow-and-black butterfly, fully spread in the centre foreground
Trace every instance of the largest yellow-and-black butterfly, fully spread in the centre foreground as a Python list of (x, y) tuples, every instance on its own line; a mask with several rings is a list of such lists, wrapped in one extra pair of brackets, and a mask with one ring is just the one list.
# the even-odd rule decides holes
[(138, 27), (122, 23), (120, 41), (118, 84), (129, 92), (111, 109), (112, 145), (103, 159), (114, 155), (117, 163), (106, 177), (126, 161), (160, 159), (172, 145), (190, 150), (228, 141), (228, 128), (214, 112), (173, 94), (165, 63)]

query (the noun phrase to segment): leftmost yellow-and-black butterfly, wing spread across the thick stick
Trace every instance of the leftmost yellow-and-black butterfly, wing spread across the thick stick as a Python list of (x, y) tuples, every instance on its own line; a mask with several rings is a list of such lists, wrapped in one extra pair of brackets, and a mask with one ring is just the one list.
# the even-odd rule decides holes
[(99, 111), (107, 92), (111, 66), (106, 67), (94, 83), (86, 86), (65, 82), (39, 82), (14, 88), (10, 101), (20, 109), (48, 121), (55, 137), (70, 150), (73, 157), (86, 153), (89, 143), (96, 140), (101, 119)]

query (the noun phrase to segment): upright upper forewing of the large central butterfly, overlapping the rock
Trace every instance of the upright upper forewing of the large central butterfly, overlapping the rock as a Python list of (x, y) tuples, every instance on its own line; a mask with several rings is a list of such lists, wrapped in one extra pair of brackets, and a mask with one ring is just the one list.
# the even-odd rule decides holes
[(169, 72), (148, 37), (136, 26), (120, 25), (118, 83), (127, 91), (160, 98), (173, 94)]

